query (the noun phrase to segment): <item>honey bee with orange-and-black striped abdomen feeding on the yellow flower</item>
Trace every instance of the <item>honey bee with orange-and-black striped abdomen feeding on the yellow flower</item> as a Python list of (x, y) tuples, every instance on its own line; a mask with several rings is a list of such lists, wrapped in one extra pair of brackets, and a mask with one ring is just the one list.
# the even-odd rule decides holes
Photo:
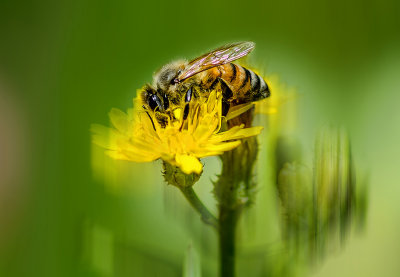
[(189, 114), (192, 99), (207, 95), (218, 84), (222, 89), (222, 115), (232, 106), (270, 96), (265, 80), (252, 70), (232, 63), (248, 55), (253, 42), (229, 44), (192, 61), (175, 61), (163, 66), (153, 77), (153, 84), (141, 93), (143, 108), (158, 111), (157, 120), (165, 126), (173, 118), (171, 106), (184, 106), (183, 119)]

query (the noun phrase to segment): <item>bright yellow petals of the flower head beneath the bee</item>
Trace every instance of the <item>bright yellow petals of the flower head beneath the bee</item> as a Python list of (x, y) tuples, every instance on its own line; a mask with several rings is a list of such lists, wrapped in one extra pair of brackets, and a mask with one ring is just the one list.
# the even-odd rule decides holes
[[(223, 118), (219, 89), (208, 97), (192, 100), (186, 119), (183, 119), (182, 108), (174, 107), (175, 118), (168, 118), (164, 127), (156, 120), (160, 116), (158, 112), (145, 111), (140, 100), (135, 102), (135, 108), (127, 114), (118, 109), (111, 110), (113, 128), (92, 126), (93, 142), (106, 148), (114, 159), (134, 162), (162, 159), (186, 174), (200, 174), (203, 170), (200, 158), (232, 150), (241, 143), (240, 139), (258, 135), (263, 129), (242, 125), (220, 132)], [(239, 111), (232, 109), (235, 116), (244, 110), (243, 107)]]

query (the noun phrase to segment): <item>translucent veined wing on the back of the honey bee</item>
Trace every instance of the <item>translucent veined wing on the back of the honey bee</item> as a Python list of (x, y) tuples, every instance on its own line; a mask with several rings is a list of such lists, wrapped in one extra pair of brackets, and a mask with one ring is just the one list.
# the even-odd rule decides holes
[(177, 81), (181, 82), (204, 70), (220, 66), (234, 60), (240, 59), (254, 49), (254, 42), (245, 41), (224, 45), (201, 57), (189, 62), (189, 64), (178, 75)]

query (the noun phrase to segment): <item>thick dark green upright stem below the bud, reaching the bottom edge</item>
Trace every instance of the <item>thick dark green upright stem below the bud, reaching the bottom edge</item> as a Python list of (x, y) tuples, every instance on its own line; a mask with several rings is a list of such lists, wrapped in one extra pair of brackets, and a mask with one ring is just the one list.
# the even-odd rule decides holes
[(235, 231), (238, 213), (235, 209), (220, 207), (219, 249), (220, 276), (235, 276)]

